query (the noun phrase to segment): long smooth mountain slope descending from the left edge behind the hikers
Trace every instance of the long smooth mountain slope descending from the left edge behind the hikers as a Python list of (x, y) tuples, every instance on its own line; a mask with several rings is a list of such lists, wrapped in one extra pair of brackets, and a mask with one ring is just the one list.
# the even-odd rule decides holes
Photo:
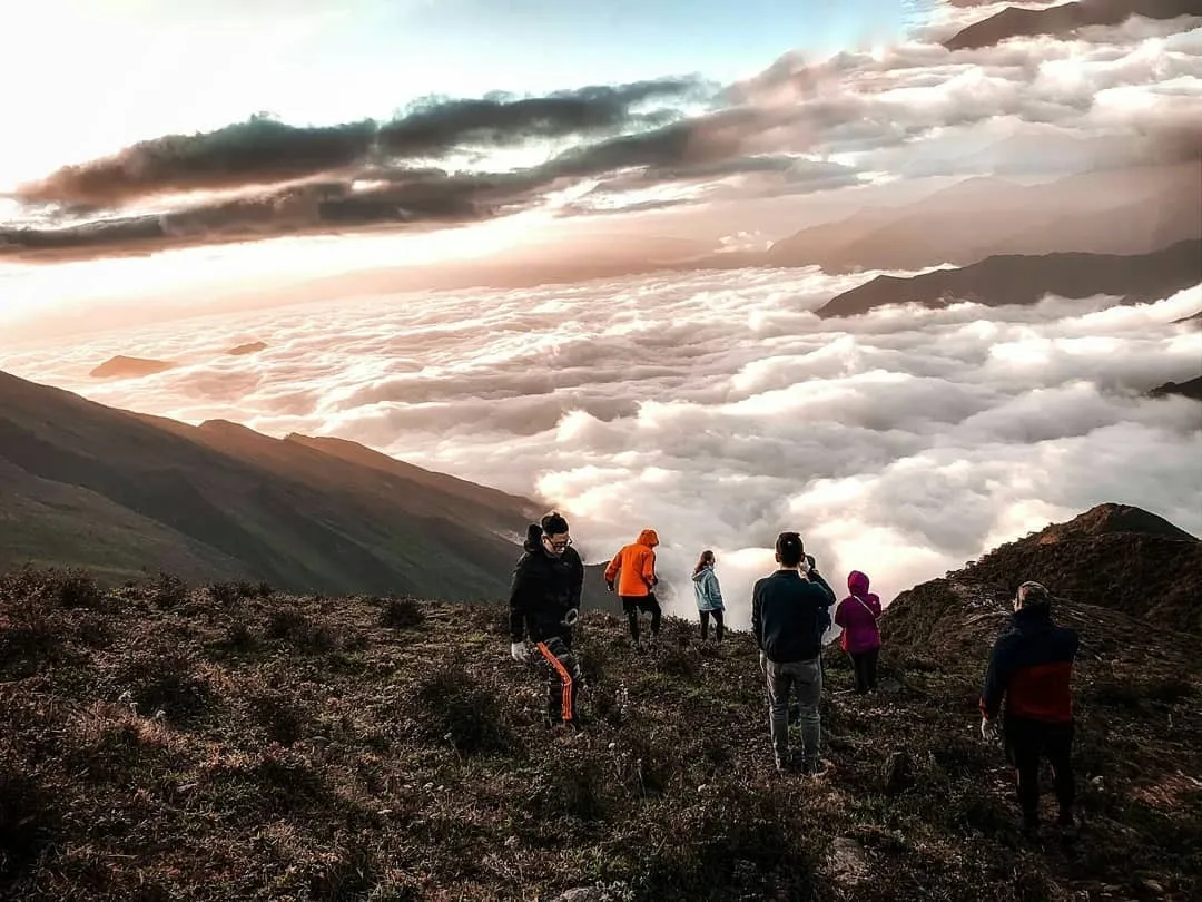
[(504, 594), (532, 502), (329, 440), (139, 416), (0, 374), (0, 485), (29, 557), (326, 592)]

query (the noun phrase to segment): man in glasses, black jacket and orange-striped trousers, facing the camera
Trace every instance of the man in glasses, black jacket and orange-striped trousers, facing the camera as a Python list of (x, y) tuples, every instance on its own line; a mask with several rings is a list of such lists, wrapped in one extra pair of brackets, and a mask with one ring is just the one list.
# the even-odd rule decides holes
[(510, 589), (510, 654), (528, 660), (529, 636), (547, 670), (547, 718), (552, 725), (573, 725), (583, 676), (572, 653), (572, 624), (581, 612), (584, 563), (572, 547), (567, 521), (555, 512), (530, 524), (523, 547)]

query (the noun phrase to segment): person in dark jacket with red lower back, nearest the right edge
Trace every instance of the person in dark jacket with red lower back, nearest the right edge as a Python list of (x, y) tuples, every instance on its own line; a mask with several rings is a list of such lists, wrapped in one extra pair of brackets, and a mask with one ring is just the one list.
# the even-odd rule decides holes
[(1052, 619), (1052, 595), (1037, 582), (1024, 582), (1014, 594), (1010, 628), (993, 647), (981, 696), (981, 734), (999, 738), (998, 713), (1002, 699), (1002, 737), (1006, 756), (1018, 778), (1023, 829), (1039, 832), (1040, 758), (1052, 765), (1061, 827), (1073, 825), (1076, 790), (1072, 773), (1072, 663), (1079, 639)]

